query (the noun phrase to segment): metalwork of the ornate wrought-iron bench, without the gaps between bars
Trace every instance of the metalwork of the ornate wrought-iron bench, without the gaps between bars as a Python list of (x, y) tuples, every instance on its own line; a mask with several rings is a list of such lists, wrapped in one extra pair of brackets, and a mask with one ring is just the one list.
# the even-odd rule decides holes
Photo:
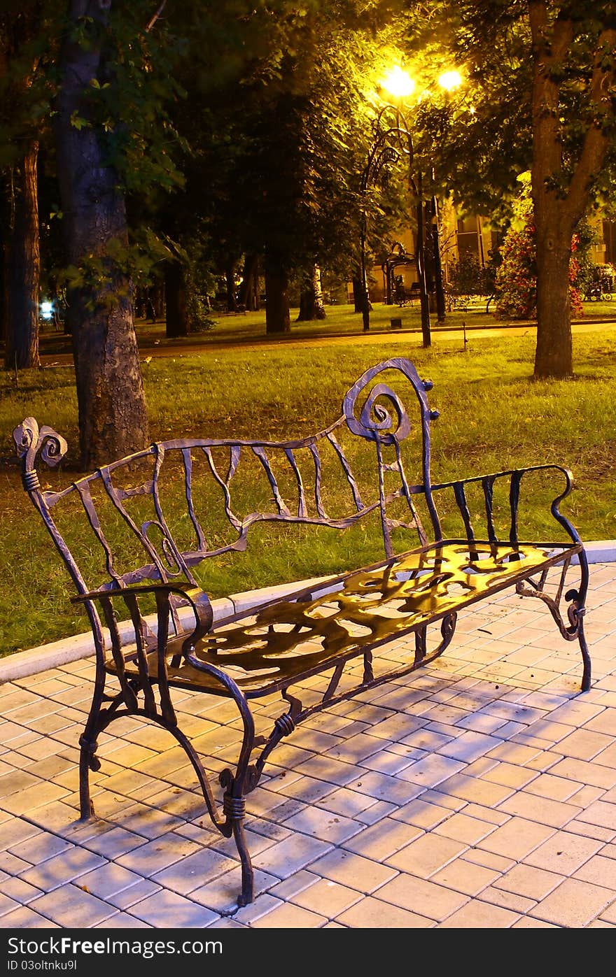
[[(401, 446), (411, 430), (411, 422), (400, 394), (389, 383), (381, 382), (380, 374), (386, 371), (390, 371), (388, 376), (397, 377), (403, 384), (408, 382), (410, 393), (418, 401), (422, 444), (419, 484), (411, 484), (407, 478)], [(431, 387), (430, 381), (419, 379), (411, 361), (402, 358), (383, 361), (367, 370), (351, 387), (344, 398), (341, 416), (318, 435), (281, 443), (202, 438), (160, 442), (145, 451), (111, 462), (58, 491), (41, 488), (35, 464), (39, 454), (47, 464), (58, 464), (66, 454), (64, 438), (51, 428), (39, 428), (31, 417), (16, 429), (14, 438), (22, 457), (23, 488), (65, 562), (77, 591), (72, 599), (83, 605), (94, 636), (94, 695), (79, 741), (82, 818), (94, 814), (89, 771), (96, 771), (101, 766), (96, 755), (99, 735), (121, 716), (142, 716), (154, 721), (168, 730), (186, 750), (214, 827), (224, 836), (235, 838), (242, 864), (242, 892), (238, 902), (243, 906), (254, 898), (253, 871), (244, 835), (245, 797), (259, 782), (274, 747), (314, 712), (375, 685), (400, 679), (441, 655), (454, 636), (460, 608), (510, 586), (520, 596), (539, 598), (548, 606), (562, 637), (566, 641), (579, 642), (583, 659), (581, 686), (583, 691), (590, 688), (591, 661), (584, 635), (588, 561), (577, 531), (559, 511), (560, 502), (573, 487), (570, 472), (558, 465), (538, 465), (432, 485), (430, 422), (438, 416), (438, 411), (431, 410), (427, 402), (426, 391)], [(373, 499), (365, 501), (362, 497), (351, 463), (336, 438), (336, 430), (341, 428), (348, 429), (374, 447), (377, 491)], [(341, 518), (330, 518), (324, 504), (322, 452), (326, 446), (337, 457), (352, 498), (351, 510)], [(226, 471), (220, 470), (214, 458), (214, 450), (220, 448), (228, 451)], [(393, 461), (386, 460), (387, 451), (393, 452)], [(195, 545), (188, 551), (180, 548), (169, 530), (158, 491), (164, 459), (172, 453), (182, 460), (186, 510), (195, 533)], [(193, 486), (196, 453), (207, 459), (212, 478), (224, 497), (225, 516), (237, 532), (234, 541), (214, 548), (208, 546), (198, 520)], [(233, 508), (232, 488), (244, 453), (258, 458), (274, 504), (270, 511), (255, 511), (240, 517)], [(313, 465), (311, 490), (307, 488), (297, 463), (300, 454), (308, 457)], [(129, 466), (128, 470), (137, 471), (136, 466), (146, 463), (150, 466), (148, 478), (133, 488), (117, 487), (116, 474), (122, 470), (125, 474), (126, 466)], [(295, 485), (292, 504), (279, 488), (276, 464), (285, 465), (287, 473), (289, 470), (292, 473)], [(532, 543), (520, 540), (518, 507), (522, 480), (529, 473), (548, 471), (564, 483), (550, 504), (551, 515), (560, 527), (564, 541)], [(392, 478), (396, 488), (388, 490), (388, 480)], [(493, 511), (495, 485), (501, 480), (508, 485), (505, 541), (500, 541), (497, 536)], [(104, 487), (107, 501), (142, 548), (146, 557), (144, 566), (124, 573), (116, 569), (116, 559), (93, 497), (94, 484)], [(466, 499), (471, 487), (483, 496), (486, 525), (483, 539), (476, 536), (471, 523)], [(67, 496), (74, 498), (75, 493), (93, 537), (105, 554), (108, 579), (95, 589), (86, 584), (52, 511)], [(462, 520), (464, 535), (461, 538), (445, 538), (441, 529), (435, 496), (445, 493), (454, 499)], [(141, 526), (128, 511), (131, 499), (136, 496), (150, 499), (154, 507), (154, 518)], [(419, 498), (428, 513), (430, 525), (427, 530), (419, 518)], [(389, 515), (388, 510), (396, 500), (406, 506), (406, 520), (393, 519)], [(193, 573), (203, 560), (245, 549), (247, 533), (258, 523), (313, 524), (344, 530), (370, 513), (380, 517), (383, 561), (351, 573), (341, 573), (329, 579), (321, 590), (314, 586), (303, 587), (294, 594), (275, 598), (249, 612), (213, 623), (210, 600)], [(404, 554), (395, 553), (392, 534), (396, 531), (413, 532), (417, 535), (418, 545)], [(157, 541), (153, 541), (153, 533)], [(555, 566), (561, 568), (560, 579), (555, 594), (551, 595), (546, 581)], [(576, 587), (565, 589), (565, 577), (570, 569), (580, 574), (580, 581)], [(148, 624), (140, 607), (142, 598), (153, 594), (154, 627)], [(563, 604), (567, 605), (564, 612), (561, 610)], [(120, 635), (118, 605), (126, 609), (132, 622), (129, 641)], [(397, 616), (394, 615), (393, 623), (389, 611), (385, 616), (379, 615), (383, 608), (391, 607), (399, 611)], [(99, 611), (102, 611), (102, 617)], [(355, 633), (353, 621), (362, 625), (360, 636)], [(428, 649), (427, 631), (434, 624), (440, 634), (435, 647)], [(255, 629), (262, 638), (254, 637)], [(384, 671), (375, 674), (374, 654), (378, 649), (392, 638), (411, 634), (415, 637), (415, 649), (410, 660), (395, 665), (390, 662)], [(313, 652), (305, 654), (304, 651), (301, 659), (294, 657), (296, 644), (306, 640), (312, 642)], [(267, 674), (267, 669), (264, 674), (266, 659), (272, 662), (271, 675)], [(349, 688), (349, 670), (351, 673), (357, 670), (358, 661), (361, 670)], [(233, 667), (236, 662), (242, 666), (240, 672)], [(325, 673), (329, 677), (321, 698), (303, 704), (301, 689), (296, 692), (296, 687), (312, 676)], [(238, 677), (239, 674), (242, 677)], [(347, 681), (345, 689), (340, 685), (343, 675)], [(112, 687), (108, 691), (110, 676), (119, 685), (119, 691)], [(242, 744), (235, 770), (226, 768), (219, 776), (223, 788), (222, 810), (196, 750), (178, 725), (171, 695), (173, 688), (225, 696), (237, 704), (242, 720)], [(250, 702), (274, 693), (282, 694), (287, 707), (274, 721), (269, 736), (257, 736)]]

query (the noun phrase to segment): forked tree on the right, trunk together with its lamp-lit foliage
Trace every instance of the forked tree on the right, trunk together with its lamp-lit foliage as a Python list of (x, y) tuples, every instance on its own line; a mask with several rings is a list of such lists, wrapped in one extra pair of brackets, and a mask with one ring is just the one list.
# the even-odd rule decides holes
[(531, 171), (535, 375), (569, 376), (572, 234), (609, 191), (614, 161), (616, 5), (445, 0), (422, 4), (421, 13), (410, 38), (418, 61), (426, 51), (436, 64), (453, 59), (467, 81), (449, 104), (423, 114), (441, 178), (486, 213), (519, 173)]

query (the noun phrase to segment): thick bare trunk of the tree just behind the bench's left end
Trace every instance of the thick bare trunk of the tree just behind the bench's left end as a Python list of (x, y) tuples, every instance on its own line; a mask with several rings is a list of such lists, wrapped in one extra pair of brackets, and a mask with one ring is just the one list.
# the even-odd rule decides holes
[[(68, 294), (81, 465), (99, 466), (149, 444), (148, 417), (133, 314), (132, 282), (110, 259), (108, 242), (128, 244), (124, 195), (107, 162), (106, 134), (87, 115), (92, 80), (107, 80), (103, 41), (80, 46), (80, 24), (92, 19), (105, 39), (110, 0), (70, 0), (60, 58), (56, 143), (68, 261), (84, 281)], [(101, 272), (92, 269), (91, 256)], [(89, 269), (91, 269), (89, 271)]]

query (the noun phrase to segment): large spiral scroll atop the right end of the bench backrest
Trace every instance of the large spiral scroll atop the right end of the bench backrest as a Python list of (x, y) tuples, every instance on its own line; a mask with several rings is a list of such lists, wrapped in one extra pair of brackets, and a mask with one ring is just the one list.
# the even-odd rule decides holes
[[(437, 410), (428, 407), (425, 391), (432, 389), (431, 380), (421, 380), (418, 371), (410, 360), (402, 357), (377, 363), (359, 378), (351, 387), (342, 404), (342, 410), (349, 429), (361, 438), (380, 441), (383, 444), (403, 441), (411, 430), (409, 416), (399, 395), (384, 383), (375, 384), (363, 405), (359, 418), (355, 416), (355, 408), (361, 392), (385, 369), (398, 369), (411, 381), (421, 406), (423, 421), (427, 426), (430, 420), (438, 417)], [(395, 412), (395, 419), (390, 409), (379, 400), (388, 401)]]

